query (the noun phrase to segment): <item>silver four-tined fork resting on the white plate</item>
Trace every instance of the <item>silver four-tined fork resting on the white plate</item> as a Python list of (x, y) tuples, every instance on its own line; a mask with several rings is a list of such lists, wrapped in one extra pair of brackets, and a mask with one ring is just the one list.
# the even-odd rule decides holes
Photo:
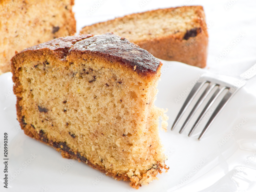
[[(218, 99), (218, 97), (223, 93), (223, 91), (227, 90), (227, 93), (223, 96), (219, 104), (217, 105), (216, 109), (212, 112), (208, 122), (204, 126), (204, 129), (202, 130), (201, 134), (198, 137), (198, 140), (205, 134), (208, 127), (212, 124), (213, 120), (216, 118), (216, 116), (219, 114), (219, 112), (223, 109), (223, 107), (227, 104), (227, 102), (231, 99), (231, 97), (246, 84), (247, 79), (252, 78), (256, 75), (256, 64), (254, 64), (250, 69), (245, 71), (240, 75), (241, 79), (236, 79), (233, 77), (223, 76), (219, 74), (213, 74), (213, 73), (204, 73), (202, 74), (200, 80), (197, 81), (197, 83), (194, 85), (192, 90), (190, 91), (187, 99), (185, 100), (182, 108), (180, 109), (171, 130), (174, 129), (174, 127), (177, 125), (178, 121), (182, 117), (182, 115), (185, 113), (193, 99), (196, 97), (197, 93), (203, 89), (202, 87), (206, 87), (204, 90), (202, 90), (202, 94), (200, 95), (199, 99), (197, 100), (196, 104), (194, 105), (193, 109), (190, 111), (189, 115), (187, 116), (185, 122), (183, 123), (181, 129), (179, 130), (179, 133), (182, 133), (182, 131), (185, 129), (186, 125), (189, 123), (191, 118), (194, 116), (196, 111), (199, 109), (200, 105), (203, 103), (203, 101), (207, 98), (212, 90), (217, 87), (217, 89), (214, 91), (214, 93), (211, 95), (210, 99), (208, 100), (207, 104), (205, 105), (204, 109), (200, 113), (199, 117), (197, 118), (196, 122), (192, 126), (191, 130), (188, 133), (188, 136), (190, 136), (196, 127), (200, 124), (208, 110), (211, 108), (211, 106), (214, 104), (214, 102)], [(206, 86), (204, 86), (206, 84)], [(199, 96), (199, 95), (198, 95)]]

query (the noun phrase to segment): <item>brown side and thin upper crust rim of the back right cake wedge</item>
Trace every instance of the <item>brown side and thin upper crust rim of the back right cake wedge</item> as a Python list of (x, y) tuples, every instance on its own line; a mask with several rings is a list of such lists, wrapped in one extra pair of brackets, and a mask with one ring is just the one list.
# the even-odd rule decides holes
[[(126, 15), (124, 17), (115, 18), (106, 22), (100, 22), (93, 24), (91, 26), (85, 26), (82, 28), (80, 33), (92, 33), (92, 28), (98, 28), (108, 25), (120, 23), (125, 23), (126, 20), (140, 19), (143, 14), (157, 15), (157, 14), (167, 14), (173, 12), (173, 15), (186, 12), (190, 9), (195, 10), (197, 17), (193, 20), (194, 23), (198, 23), (200, 27), (188, 30), (187, 33), (177, 32), (172, 35), (162, 35), (155, 38), (147, 38), (133, 41), (135, 44), (143, 49), (149, 51), (152, 55), (157, 58), (184, 62), (189, 65), (197, 67), (205, 67), (207, 59), (207, 47), (208, 47), (208, 33), (207, 25), (205, 22), (205, 14), (202, 6), (183, 6), (183, 7), (172, 7), (165, 9), (151, 10), (143, 13), (135, 13), (131, 15)], [(135, 26), (140, 27), (140, 26)], [(122, 30), (122, 29), (120, 29)], [(178, 31), (178, 29), (177, 29)]]

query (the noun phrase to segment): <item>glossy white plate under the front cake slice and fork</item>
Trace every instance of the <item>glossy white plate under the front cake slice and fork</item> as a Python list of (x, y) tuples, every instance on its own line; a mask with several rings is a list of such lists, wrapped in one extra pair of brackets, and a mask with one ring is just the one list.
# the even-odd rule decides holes
[[(185, 101), (185, 90), (192, 87), (204, 70), (179, 62), (163, 62), (155, 104), (169, 109), (168, 131), (160, 131), (160, 136), (170, 169), (159, 174), (159, 180), (139, 190), (131, 188), (129, 182), (104, 176), (82, 162), (62, 158), (53, 148), (26, 136), (16, 120), (12, 74), (1, 75), (0, 159), (4, 158), (4, 132), (7, 132), (9, 181), (6, 191), (255, 191), (255, 78), (234, 95), (198, 141), (199, 130), (188, 137), (187, 129), (178, 133), (180, 124), (174, 131), (170, 131), (170, 126)], [(4, 184), (1, 185), (2, 191)]]

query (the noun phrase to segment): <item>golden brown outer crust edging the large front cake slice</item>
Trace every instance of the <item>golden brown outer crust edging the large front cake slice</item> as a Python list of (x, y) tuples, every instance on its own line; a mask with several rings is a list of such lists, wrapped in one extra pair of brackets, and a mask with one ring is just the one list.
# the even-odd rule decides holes
[[(72, 148), (72, 150), (71, 150), (71, 147), (68, 146), (66, 141), (60, 141), (59, 138), (57, 140), (56, 137), (53, 137), (51, 134), (47, 134), (47, 132), (44, 132), (43, 129), (40, 128), (38, 130), (37, 129), (38, 127), (36, 126), (36, 124), (34, 126), (34, 125), (32, 125), (33, 123), (30, 124), (31, 122), (27, 121), (27, 118), (29, 116), (28, 112), (27, 112), (27, 109), (26, 109), (27, 105), (24, 106), (23, 99), (25, 99), (25, 98), (22, 98), (22, 97), (24, 97), (23, 92), (27, 87), (20, 83), (20, 82), (22, 82), (22, 78), (24, 77), (24, 76), (20, 76), (20, 74), (22, 73), (20, 70), (23, 70), (23, 65), (24, 65), (24, 68), (26, 67), (26, 64), (23, 64), (23, 61), (25, 59), (28, 59), (28, 58), (29, 58), (29, 60), (32, 60), (32, 61), (42, 61), (42, 57), (45, 59), (44, 56), (47, 56), (47, 57), (51, 57), (52, 59), (53, 58), (57, 59), (58, 62), (54, 62), (54, 64), (53, 64), (54, 66), (58, 66), (58, 65), (59, 66), (60, 65), (70, 66), (69, 61), (74, 61), (74, 60), (71, 59), (71, 60), (67, 61), (66, 60), (67, 58), (70, 59), (70, 57), (74, 57), (74, 59), (77, 59), (77, 58), (80, 58), (81, 60), (83, 59), (82, 55), (83, 55), (83, 49), (85, 47), (82, 46), (82, 50), (79, 50), (78, 47), (81, 47), (81, 45), (79, 43), (77, 44), (77, 42), (81, 42), (81, 44), (91, 45), (92, 43), (95, 43), (95, 40), (97, 41), (97, 39), (93, 39), (93, 38), (91, 38), (91, 36), (92, 35), (80, 35), (80, 36), (69, 36), (69, 37), (58, 38), (58, 39), (54, 39), (54, 40), (45, 42), (41, 45), (33, 46), (31, 48), (27, 48), (26, 50), (23, 50), (22, 52), (16, 53), (16, 56), (12, 58), (11, 67), (12, 67), (12, 73), (13, 73), (12, 78), (13, 78), (13, 82), (14, 82), (14, 88), (13, 89), (14, 89), (14, 93), (16, 94), (16, 97), (17, 97), (16, 109), (17, 109), (18, 121), (19, 121), (20, 126), (22, 127), (22, 129), (24, 130), (24, 133), (26, 135), (54, 147), (57, 151), (61, 152), (61, 155), (63, 157), (65, 157), (65, 158), (74, 158), (74, 159), (78, 159), (79, 161), (83, 161), (83, 162), (87, 163), (89, 166), (93, 167), (94, 169), (100, 170), (101, 172), (106, 173), (106, 175), (112, 176), (113, 178), (115, 178), (117, 180), (125, 180), (125, 181), (129, 180), (130, 185), (132, 187), (138, 188), (139, 186), (141, 186), (141, 184), (148, 183), (148, 180), (147, 180), (148, 175), (150, 175), (151, 179), (156, 179), (156, 175), (158, 173), (162, 172), (161, 169), (166, 168), (165, 165), (163, 165), (164, 160), (163, 161), (161, 160), (160, 163), (159, 163), (159, 160), (155, 161), (154, 163), (152, 163), (152, 164), (154, 164), (153, 166), (152, 166), (152, 164), (150, 164), (148, 166), (150, 169), (147, 169), (147, 170), (143, 169), (141, 171), (142, 175), (134, 174), (134, 175), (131, 176), (131, 175), (128, 175), (128, 173), (124, 172), (124, 171), (121, 171), (121, 173), (120, 173), (120, 172), (117, 172), (117, 171), (114, 171), (114, 170), (110, 170), (111, 168), (107, 169), (102, 165), (100, 166), (100, 165), (98, 165), (97, 163), (95, 163), (93, 161), (91, 161), (91, 162), (88, 161), (88, 159), (86, 159), (85, 156), (82, 156), (79, 153), (79, 151), (77, 151), (77, 148)], [(120, 38), (120, 37), (117, 37), (113, 34), (109, 34), (109, 36), (113, 36), (115, 38)], [(101, 35), (100, 37), (103, 37), (103, 35)], [(134, 48), (133, 51), (135, 51), (135, 52), (138, 51), (138, 50), (141, 50), (140, 48), (138, 48), (134, 44), (126, 41), (125, 39), (122, 39), (121, 42), (123, 42), (123, 43), (127, 44), (128, 46), (131, 46), (132, 48)], [(87, 49), (88, 45), (86, 46), (86, 49), (85, 49), (87, 51), (89, 51), (89, 49)], [(90, 49), (93, 49), (93, 50), (96, 50), (96, 48), (97, 48), (97, 43), (96, 43), (96, 46), (91, 46), (90, 47)], [(76, 55), (73, 53), (74, 51), (78, 52), (77, 56), (79, 56), (79, 57), (76, 57)], [(97, 51), (100, 51), (100, 49), (97, 49)], [(149, 56), (149, 58), (152, 57), (148, 52), (145, 52), (144, 50), (142, 50), (142, 51), (144, 53), (144, 55), (142, 54), (142, 56), (145, 56), (145, 54), (146, 54), (147, 56)], [(70, 52), (72, 52), (72, 54)], [(100, 51), (100, 52), (102, 53), (102, 51)], [(107, 57), (108, 54), (111, 55), (111, 53), (104, 53), (103, 55), (101, 55), (100, 52), (98, 52), (97, 56), (100, 55), (100, 57), (103, 58), (104, 60), (106, 58), (108, 58)], [(84, 54), (84, 55), (88, 55), (88, 54)], [(114, 55), (112, 55), (112, 57), (113, 56)], [(124, 56), (126, 56), (126, 55), (124, 55)], [(112, 57), (109, 57), (108, 61), (113, 59)], [(45, 61), (44, 59), (43, 59), (42, 62)], [(89, 57), (87, 57), (87, 59), (89, 59)], [(141, 59), (143, 60), (145, 58), (142, 57)], [(124, 64), (125, 62), (128, 62), (128, 61), (129, 60), (124, 60), (124, 61), (119, 61), (119, 62), (123, 62), (123, 64)], [(147, 61), (147, 62), (149, 62), (149, 61)], [(24, 63), (26, 63), (26, 62), (24, 62)], [(120, 63), (120, 64), (122, 64), (122, 63)], [(49, 65), (51, 65), (51, 64), (49, 64)], [(119, 65), (116, 65), (114, 62), (111, 65), (119, 66)], [(158, 61), (158, 65), (161, 65), (161, 62)], [(156, 67), (156, 70), (157, 70), (156, 71), (156, 73), (157, 73), (156, 76), (157, 77), (160, 74), (159, 69), (160, 69), (160, 67), (157, 66)], [(134, 72), (134, 70), (132, 70), (131, 72), (133, 72), (137, 76), (137, 72)], [(147, 81), (147, 83), (148, 83), (148, 81)], [(38, 106), (38, 109), (39, 109), (39, 106)], [(42, 111), (40, 111), (40, 109), (39, 109), (39, 112), (42, 112)]]

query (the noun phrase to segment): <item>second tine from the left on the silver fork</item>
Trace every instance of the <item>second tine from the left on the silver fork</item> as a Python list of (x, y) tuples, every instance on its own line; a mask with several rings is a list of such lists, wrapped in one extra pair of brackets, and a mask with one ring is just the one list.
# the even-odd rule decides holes
[(200, 105), (203, 103), (203, 101), (206, 99), (206, 97), (210, 94), (210, 92), (212, 91), (212, 89), (214, 89), (217, 86), (216, 83), (212, 84), (209, 83), (207, 88), (205, 89), (205, 91), (201, 94), (200, 98), (198, 99), (198, 101), (196, 102), (195, 106), (193, 107), (193, 109), (191, 110), (191, 112), (189, 113), (187, 119), (185, 120), (185, 122), (183, 123), (182, 127), (179, 130), (179, 133), (182, 133), (182, 131), (184, 130), (184, 128), (186, 127), (186, 125), (188, 124), (188, 122), (190, 121), (190, 119), (193, 117), (193, 115), (195, 114), (195, 112), (198, 110), (198, 108), (200, 107)]

